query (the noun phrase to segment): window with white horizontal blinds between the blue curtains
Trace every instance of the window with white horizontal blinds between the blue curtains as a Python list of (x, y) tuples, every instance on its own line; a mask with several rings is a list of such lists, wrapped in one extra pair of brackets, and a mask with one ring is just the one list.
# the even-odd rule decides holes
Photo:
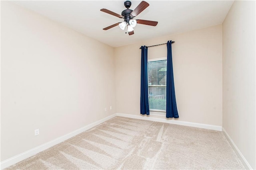
[(167, 59), (148, 60), (148, 102), (150, 111), (166, 111)]

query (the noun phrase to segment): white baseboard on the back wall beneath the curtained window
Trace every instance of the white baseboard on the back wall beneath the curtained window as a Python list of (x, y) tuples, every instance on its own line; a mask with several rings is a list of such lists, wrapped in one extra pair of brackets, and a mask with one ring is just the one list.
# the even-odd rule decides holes
[(124, 113), (116, 113), (116, 115), (122, 116), (122, 117), (134, 118), (134, 119), (158, 121), (158, 122), (163, 122), (163, 123), (170, 123), (170, 124), (176, 124), (176, 125), (184, 125), (184, 126), (191, 126), (191, 127), (199, 127), (199, 128), (203, 128), (203, 129), (222, 131), (222, 127), (216, 126), (216, 125), (193, 123), (193, 122), (188, 122), (188, 121), (179, 121), (179, 120), (173, 120), (173, 119), (167, 119), (167, 118), (150, 117), (147, 115), (130, 115), (130, 114), (124, 114)]

